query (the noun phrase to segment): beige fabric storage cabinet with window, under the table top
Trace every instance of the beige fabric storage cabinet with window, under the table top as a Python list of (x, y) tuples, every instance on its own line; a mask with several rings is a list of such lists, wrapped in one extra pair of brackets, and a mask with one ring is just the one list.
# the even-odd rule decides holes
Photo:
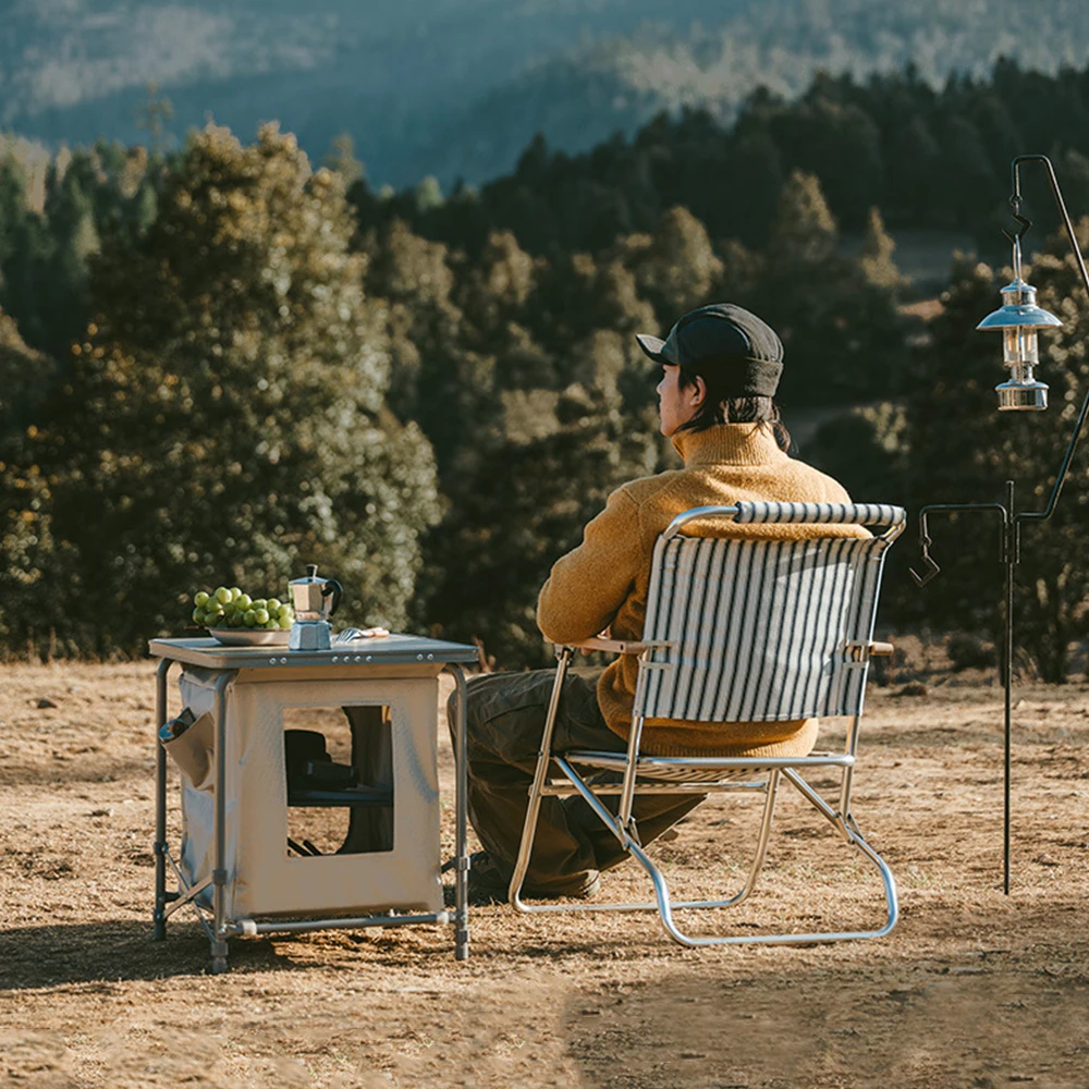
[[(182, 702), (195, 714), (212, 709), (217, 676), (193, 668), (182, 674)], [(228, 688), (225, 754), (231, 800), (225, 813), (224, 909), (231, 918), (441, 909), (435, 741), (438, 698), (436, 677), (279, 681), (274, 675), (266, 680), (258, 674), (250, 681), (235, 678)], [(289, 797), (284, 762), (284, 712), (295, 708), (366, 708), (379, 713), (388, 709), (390, 772), (380, 772), (386, 782), (367, 785), (392, 787), (392, 849), (310, 857), (292, 854), (287, 845), (287, 803), (293, 799)], [(376, 734), (382, 725), (381, 721), (374, 723)], [(381, 735), (367, 741), (370, 745), (356, 752), (357, 760), (365, 760), (388, 744)], [(207, 779), (194, 784), (183, 772), (181, 780), (179, 862), (185, 880), (193, 885), (210, 874), (213, 866), (215, 792)], [(342, 792), (340, 799), (337, 792), (327, 793), (326, 805), (352, 808), (351, 791)], [(210, 894), (204, 902), (210, 906)]]

